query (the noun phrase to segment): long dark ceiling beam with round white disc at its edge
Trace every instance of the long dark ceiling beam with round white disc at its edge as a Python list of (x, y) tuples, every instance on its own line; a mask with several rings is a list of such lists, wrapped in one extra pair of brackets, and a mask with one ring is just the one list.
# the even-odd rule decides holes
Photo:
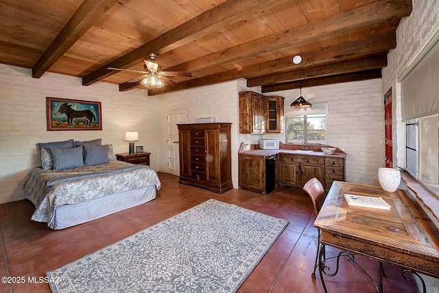
[[(204, 78), (189, 80), (187, 82), (179, 82), (176, 86), (165, 86), (159, 91), (160, 93), (165, 93), (180, 89), (189, 89), (195, 86), (205, 86), (207, 84), (235, 80), (237, 78), (254, 78), (261, 75), (274, 74), (276, 72), (327, 65), (329, 61), (334, 60), (334, 56), (337, 62), (357, 60), (368, 56), (386, 54), (388, 50), (393, 49), (394, 47), (396, 47), (395, 34), (384, 34), (382, 36), (343, 43), (333, 47), (311, 51), (307, 54), (302, 54), (303, 61), (300, 65), (295, 65), (292, 62), (293, 56), (287, 56), (272, 61), (262, 62), (257, 65), (243, 67), (241, 70), (235, 69), (220, 74), (209, 75)], [(119, 91), (128, 91), (139, 87), (143, 87), (140, 82), (124, 82), (123, 84), (119, 84)], [(154, 91), (156, 90), (149, 90), (148, 93), (153, 93)]]

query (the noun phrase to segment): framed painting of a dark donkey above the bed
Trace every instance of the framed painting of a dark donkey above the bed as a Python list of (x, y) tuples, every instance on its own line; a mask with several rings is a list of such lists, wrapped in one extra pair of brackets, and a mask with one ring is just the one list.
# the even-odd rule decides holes
[(101, 102), (46, 97), (47, 130), (102, 130)]

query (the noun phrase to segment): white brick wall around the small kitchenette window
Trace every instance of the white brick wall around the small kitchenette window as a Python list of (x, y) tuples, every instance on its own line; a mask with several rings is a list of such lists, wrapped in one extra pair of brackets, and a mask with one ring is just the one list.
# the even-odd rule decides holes
[[(289, 107), (298, 89), (270, 93), (285, 97)], [(311, 104), (328, 102), (328, 143), (346, 150), (346, 181), (379, 185), (377, 172), (384, 166), (384, 109), (381, 79), (346, 82), (302, 89)], [(285, 134), (264, 138), (285, 141)]]

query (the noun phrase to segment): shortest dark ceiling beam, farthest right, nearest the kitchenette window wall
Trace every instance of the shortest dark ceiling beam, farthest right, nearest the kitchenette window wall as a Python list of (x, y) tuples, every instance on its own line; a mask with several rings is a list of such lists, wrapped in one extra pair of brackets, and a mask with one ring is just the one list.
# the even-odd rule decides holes
[[(302, 81), (302, 88), (309, 86), (323, 86), (327, 84), (339, 84), (342, 82), (357, 82), (360, 80), (372, 80), (381, 78), (381, 69), (370, 69), (353, 73), (343, 73), (323, 78), (310, 78)], [(289, 89), (299, 89), (300, 81), (283, 82), (281, 84), (272, 84), (269, 86), (261, 86), (262, 93), (271, 93), (273, 91), (287, 91)]]

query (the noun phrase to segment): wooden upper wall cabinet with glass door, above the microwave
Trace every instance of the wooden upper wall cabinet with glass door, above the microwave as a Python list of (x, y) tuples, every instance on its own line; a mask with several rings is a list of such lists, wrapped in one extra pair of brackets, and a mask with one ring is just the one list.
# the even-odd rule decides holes
[(265, 97), (253, 91), (239, 93), (239, 133), (283, 132), (283, 97)]

